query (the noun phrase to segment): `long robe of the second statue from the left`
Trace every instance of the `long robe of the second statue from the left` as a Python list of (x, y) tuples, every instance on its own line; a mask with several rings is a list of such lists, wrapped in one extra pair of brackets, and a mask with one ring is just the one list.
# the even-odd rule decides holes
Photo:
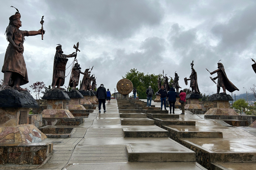
[[(60, 64), (59, 63), (67, 63), (68, 59), (67, 59), (67, 55), (66, 54), (61, 54), (59, 52), (55, 53), (54, 56), (54, 62), (53, 62), (53, 75), (52, 75), (52, 86), (54, 85), (54, 81), (56, 77), (60, 77), (63, 78), (63, 80), (61, 81), (60, 86), (63, 86), (65, 83), (65, 69), (66, 69), (66, 65), (61, 65), (64, 66), (64, 68), (60, 68)], [(56, 85), (59, 83), (59, 80), (57, 81)]]

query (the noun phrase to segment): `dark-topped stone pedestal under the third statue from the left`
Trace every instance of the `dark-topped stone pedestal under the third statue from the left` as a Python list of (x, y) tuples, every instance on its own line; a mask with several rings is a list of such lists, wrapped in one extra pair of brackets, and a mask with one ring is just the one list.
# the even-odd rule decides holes
[(67, 109), (68, 110), (86, 110), (83, 105), (81, 105), (81, 99), (83, 99), (83, 95), (75, 89), (67, 92), (70, 101), (68, 102)]

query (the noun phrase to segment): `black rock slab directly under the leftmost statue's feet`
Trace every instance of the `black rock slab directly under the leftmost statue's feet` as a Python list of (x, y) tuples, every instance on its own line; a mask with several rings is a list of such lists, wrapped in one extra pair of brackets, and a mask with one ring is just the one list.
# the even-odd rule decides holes
[(0, 107), (37, 108), (38, 104), (29, 92), (4, 89), (0, 91)]

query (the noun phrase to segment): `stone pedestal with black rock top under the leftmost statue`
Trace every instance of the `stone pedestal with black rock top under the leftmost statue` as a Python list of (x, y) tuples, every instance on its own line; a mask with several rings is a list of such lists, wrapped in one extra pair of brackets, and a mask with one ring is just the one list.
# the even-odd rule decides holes
[(35, 143), (47, 138), (29, 125), (29, 108), (38, 107), (29, 92), (0, 91), (0, 143)]

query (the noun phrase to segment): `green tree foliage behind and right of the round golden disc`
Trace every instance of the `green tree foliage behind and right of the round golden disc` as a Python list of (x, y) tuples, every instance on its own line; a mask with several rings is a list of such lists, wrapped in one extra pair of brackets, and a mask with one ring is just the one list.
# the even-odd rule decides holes
[(133, 68), (129, 72), (126, 72), (125, 76), (122, 77), (127, 78), (132, 82), (133, 87), (137, 89), (139, 99), (147, 99), (146, 90), (148, 89), (148, 86), (151, 86), (154, 92), (158, 91), (158, 75), (148, 73), (144, 75), (144, 73)]

